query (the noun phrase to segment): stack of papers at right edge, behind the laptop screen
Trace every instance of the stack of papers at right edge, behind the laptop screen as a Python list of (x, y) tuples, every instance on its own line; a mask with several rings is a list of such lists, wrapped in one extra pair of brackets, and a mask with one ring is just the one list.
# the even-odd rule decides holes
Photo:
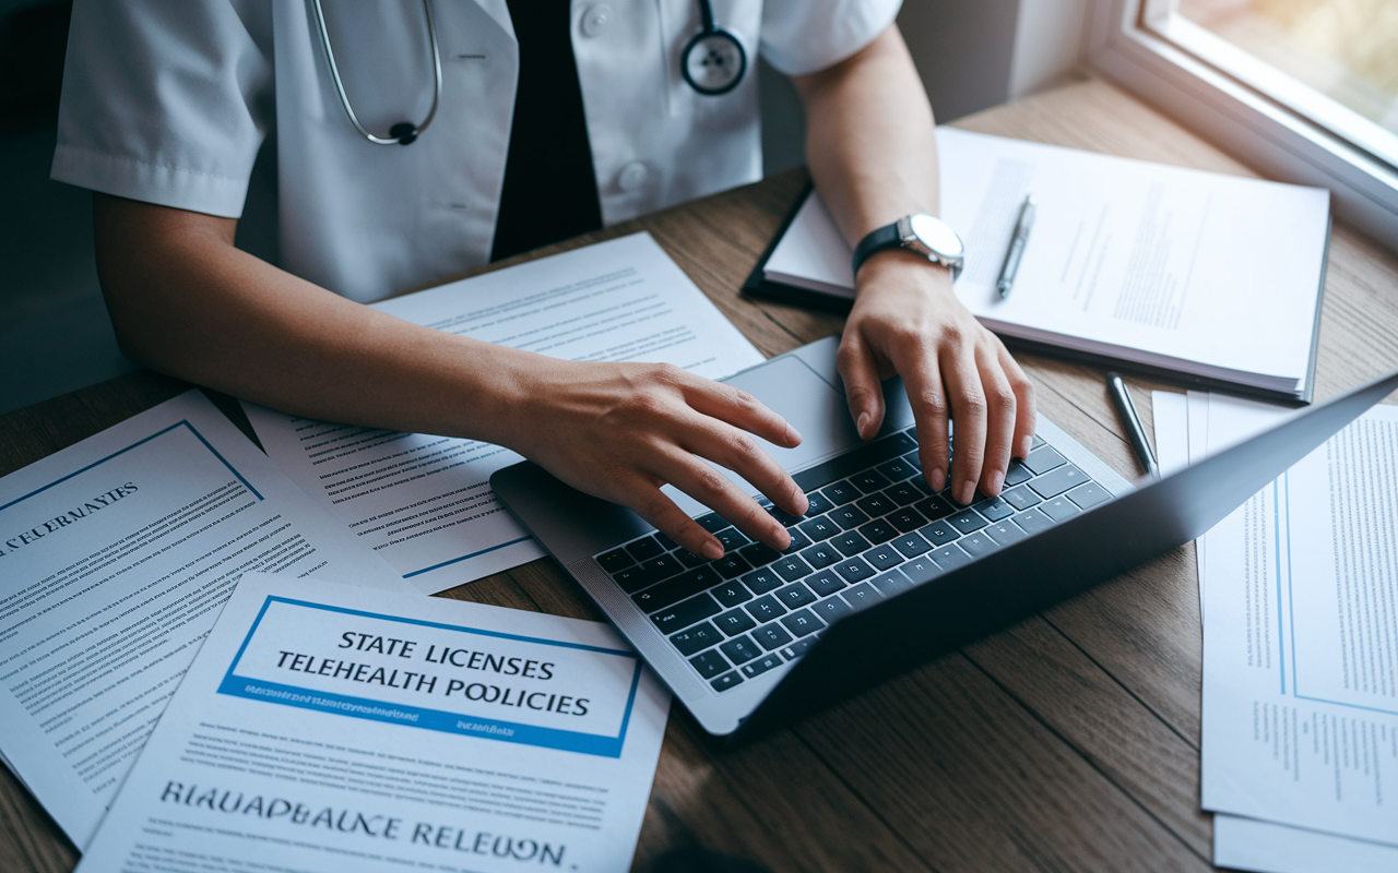
[[(1289, 413), (1204, 393), (1153, 408), (1166, 472)], [(1229, 515), (1198, 563), (1215, 863), (1398, 872), (1398, 406)]]

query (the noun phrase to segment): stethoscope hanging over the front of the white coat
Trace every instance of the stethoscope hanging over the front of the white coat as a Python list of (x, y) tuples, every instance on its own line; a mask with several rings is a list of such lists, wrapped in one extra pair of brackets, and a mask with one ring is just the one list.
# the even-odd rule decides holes
[[(709, 0), (699, 1), (700, 29), (685, 43), (679, 54), (679, 74), (685, 82), (699, 94), (717, 96), (728, 94), (742, 81), (748, 71), (748, 53), (742, 43), (728, 31), (714, 25), (713, 6)], [(345, 94), (344, 81), (340, 78), (340, 67), (336, 64), (336, 50), (330, 46), (330, 31), (326, 28), (326, 11), (320, 0), (310, 0), (310, 7), (316, 13), (316, 29), (320, 32), (320, 45), (326, 49), (326, 61), (330, 66), (330, 78), (336, 82), (336, 92), (340, 94), (340, 105), (345, 108), (350, 123), (365, 140), (375, 145), (408, 145), (422, 135), (432, 119), (436, 117), (438, 103), (442, 101), (442, 50), (438, 47), (436, 20), (432, 17), (431, 0), (422, 0), (422, 13), (428, 21), (428, 42), (432, 43), (432, 108), (428, 117), (418, 124), (412, 122), (398, 122), (389, 129), (387, 137), (379, 137), (359, 123), (359, 117), (350, 105), (350, 95)]]

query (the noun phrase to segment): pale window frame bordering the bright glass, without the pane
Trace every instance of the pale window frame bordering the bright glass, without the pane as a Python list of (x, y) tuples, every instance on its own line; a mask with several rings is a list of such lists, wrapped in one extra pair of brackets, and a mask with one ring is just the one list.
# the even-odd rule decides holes
[[(1180, 42), (1167, 39), (1146, 24), (1146, 13), (1159, 21), (1159, 8), (1160, 0), (1092, 0), (1089, 64), (1264, 175), (1329, 189), (1336, 218), (1398, 249), (1398, 166), (1384, 159), (1385, 149), (1370, 152), (1345, 138), (1339, 133), (1343, 126), (1325, 127), (1299, 112), (1295, 101), (1271, 96), (1267, 91), (1275, 94), (1276, 82), (1258, 81), (1248, 73), (1285, 74), (1271, 67), (1260, 70), (1264, 61), (1241, 49), (1213, 38), (1227, 46), (1223, 52), (1233, 49), (1251, 60), (1251, 67), (1240, 67), (1251, 82), (1209, 63), (1205, 56), (1219, 45), (1199, 39), (1187, 25), (1180, 28)], [(1205, 47), (1199, 54), (1188, 50), (1201, 45)], [(1229, 61), (1239, 59), (1215, 54), (1215, 60), (1232, 66)]]

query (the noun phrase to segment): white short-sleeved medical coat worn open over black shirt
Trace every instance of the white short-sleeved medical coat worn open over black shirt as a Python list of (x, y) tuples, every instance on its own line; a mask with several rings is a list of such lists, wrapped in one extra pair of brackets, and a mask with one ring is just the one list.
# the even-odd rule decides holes
[[(350, 124), (305, 0), (78, 0), (53, 179), (236, 218), (266, 141), (275, 148), (280, 267), (368, 302), (482, 264), (519, 46), (505, 0), (432, 3), (440, 106), (404, 147), (375, 145)], [(603, 221), (759, 179), (759, 52), (787, 74), (821, 70), (868, 45), (898, 6), (713, 0), (716, 24), (744, 45), (749, 68), (734, 91), (706, 96), (679, 73), (700, 29), (695, 0), (575, 0)], [(421, 0), (324, 7), (361, 123), (384, 135), (421, 122), (432, 102)]]

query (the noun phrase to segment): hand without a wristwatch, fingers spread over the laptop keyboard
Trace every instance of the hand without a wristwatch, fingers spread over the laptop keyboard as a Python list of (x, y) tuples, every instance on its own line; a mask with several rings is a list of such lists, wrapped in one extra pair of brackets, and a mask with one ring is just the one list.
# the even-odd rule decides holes
[(752, 539), (777, 550), (791, 545), (780, 522), (702, 458), (738, 474), (793, 515), (809, 506), (754, 439), (791, 448), (801, 434), (747, 391), (675, 366), (531, 355), (510, 415), (506, 446), (573, 487), (630, 507), (695, 555), (723, 557), (723, 545), (661, 485), (713, 507)]

